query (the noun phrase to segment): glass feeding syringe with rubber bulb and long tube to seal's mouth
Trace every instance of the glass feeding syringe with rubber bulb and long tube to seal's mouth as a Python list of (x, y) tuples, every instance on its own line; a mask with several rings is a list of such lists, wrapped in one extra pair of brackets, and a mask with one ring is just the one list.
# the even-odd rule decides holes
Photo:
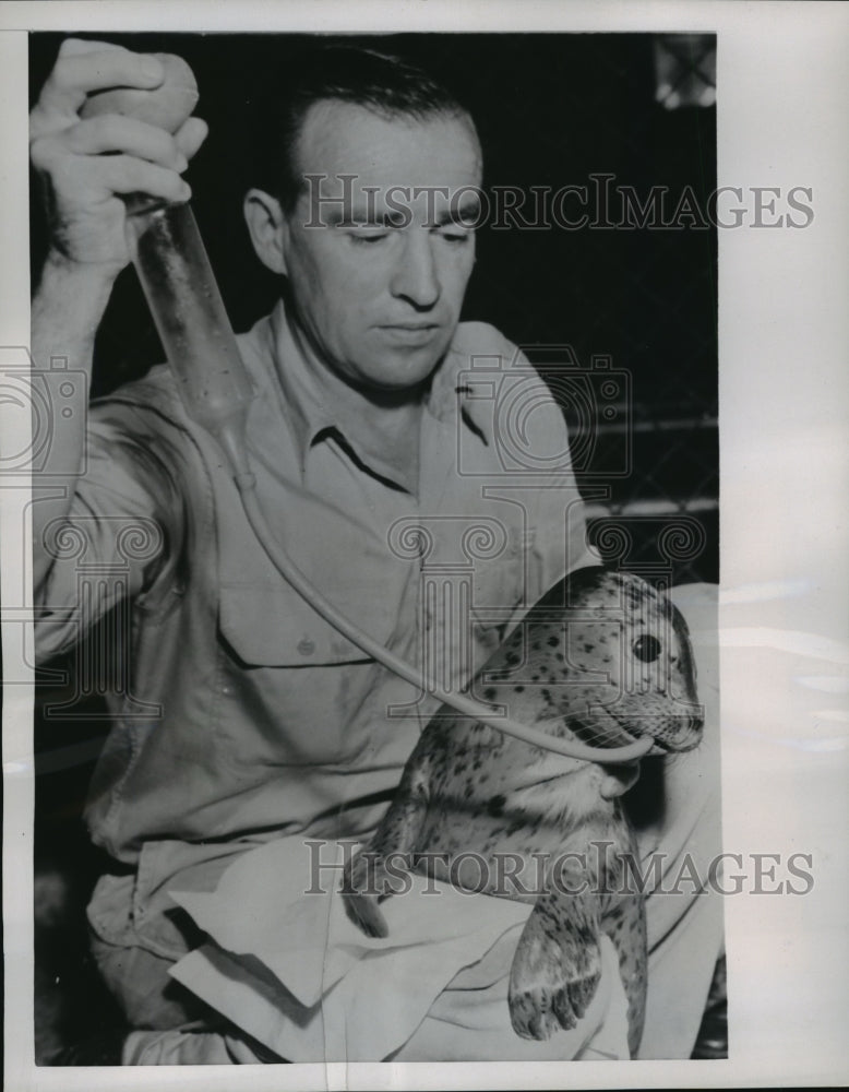
[[(91, 96), (83, 116), (118, 112), (141, 117), (176, 132), (194, 107), (196, 84), (191, 70), (179, 58), (157, 56), (166, 70), (163, 87), (145, 93), (111, 88)], [(169, 73), (174, 79), (170, 95)], [(128, 227), (136, 240), (135, 268), (186, 412), (215, 437), (226, 453), (246, 518), (280, 575), (326, 622), (368, 656), (412, 686), (432, 693), (462, 716), (579, 761), (607, 765), (642, 758), (650, 749), (651, 739), (617, 748), (597, 748), (577, 740), (559, 739), (502, 716), (497, 709), (465, 695), (449, 693), (437, 685), (429, 685), (421, 672), (363, 633), (324, 598), (275, 541), (259, 503), (256, 482), (246, 449), (246, 424), (253, 390), (191, 207), (152, 201), (143, 194), (132, 194), (127, 205)]]

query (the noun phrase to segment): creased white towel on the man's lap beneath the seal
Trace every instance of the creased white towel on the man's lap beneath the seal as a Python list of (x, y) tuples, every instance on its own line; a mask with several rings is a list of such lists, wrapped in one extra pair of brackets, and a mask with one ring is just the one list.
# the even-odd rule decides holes
[[(334, 848), (342, 859), (326, 843), (323, 864)], [(578, 1029), (529, 1043), (513, 1032), (506, 1002), (529, 905), (414, 877), (407, 894), (382, 904), (388, 937), (370, 939), (348, 921), (335, 891), (304, 893), (312, 875), (310, 850), (289, 838), (246, 854), (214, 893), (174, 894), (212, 940), (171, 973), (280, 1056), (414, 1060), (437, 1036), (440, 1057), (470, 1060), (469, 1031), (479, 1043), (487, 1038), (483, 1056), (491, 1058), (571, 1058), (590, 1040), (593, 1056), (627, 1056), (624, 993), (609, 941), (602, 983)], [(330, 875), (335, 889), (338, 873)]]

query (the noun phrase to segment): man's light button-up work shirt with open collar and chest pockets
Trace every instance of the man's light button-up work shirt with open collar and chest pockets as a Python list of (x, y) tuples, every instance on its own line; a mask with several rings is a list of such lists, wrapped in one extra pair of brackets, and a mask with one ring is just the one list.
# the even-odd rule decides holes
[[(258, 392), (249, 454), (278, 541), (361, 629), (443, 685), (467, 682), (512, 619), (596, 560), (562, 414), (491, 327), (461, 324), (434, 376), (417, 495), (378, 442), (327, 418), (282, 305), (239, 347)], [(155, 883), (175, 842), (190, 859), (373, 828), (439, 702), (277, 573), (165, 367), (93, 404), (70, 519), (38, 652), (70, 648), (111, 612), (128, 665), (87, 805), (95, 841), (128, 865), (144, 851)]]

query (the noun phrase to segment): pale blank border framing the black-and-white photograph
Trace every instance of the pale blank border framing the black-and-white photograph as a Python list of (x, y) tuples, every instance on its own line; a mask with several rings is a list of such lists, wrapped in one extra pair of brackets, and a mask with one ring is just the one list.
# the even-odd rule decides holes
[[(742, 854), (811, 853), (815, 882), (803, 898), (727, 900), (728, 1061), (637, 1061), (613, 1068), (582, 1063), (569, 1069), (553, 1063), (128, 1068), (120, 1076), (107, 1068), (36, 1068), (33, 690), (25, 684), (9, 687), (3, 695), (5, 1087), (10, 1092), (171, 1085), (276, 1092), (842, 1083), (849, 1076), (844, 1047), (849, 1010), (845, 698), (823, 692), (820, 707), (810, 711), (813, 721), (800, 722), (789, 736), (769, 714), (799, 703), (800, 680), (782, 672), (776, 650), (815, 646), (838, 678), (849, 646), (849, 154), (842, 109), (849, 88), (849, 9), (721, 0), (5, 3), (0, 10), (3, 346), (26, 345), (29, 337), (26, 32), (72, 28), (717, 34), (719, 186), (809, 187), (814, 207), (804, 230), (719, 232), (724, 844)], [(8, 442), (17, 439), (7, 432)], [(0, 488), (0, 591), (20, 587), (23, 580), (17, 529), (26, 500), (24, 488)], [(757, 632), (736, 628), (733, 605), (746, 595), (763, 601)], [(3, 600), (11, 602), (8, 595)], [(25, 668), (13, 664), (17, 632), (14, 620), (4, 617), (5, 667), (20, 679)], [(741, 723), (731, 711), (726, 723), (741, 664), (761, 700), (746, 705), (752, 720)]]

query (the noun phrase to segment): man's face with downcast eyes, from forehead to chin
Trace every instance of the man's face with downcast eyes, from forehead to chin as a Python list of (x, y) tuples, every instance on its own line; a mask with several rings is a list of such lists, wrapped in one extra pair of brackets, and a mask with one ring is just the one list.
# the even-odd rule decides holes
[[(285, 217), (295, 320), (318, 361), (372, 392), (426, 380), (451, 342), (475, 261), (480, 147), (463, 118), (384, 119), (325, 100), (298, 144)], [(345, 181), (342, 176), (354, 176)], [(465, 195), (457, 191), (467, 188)]]

